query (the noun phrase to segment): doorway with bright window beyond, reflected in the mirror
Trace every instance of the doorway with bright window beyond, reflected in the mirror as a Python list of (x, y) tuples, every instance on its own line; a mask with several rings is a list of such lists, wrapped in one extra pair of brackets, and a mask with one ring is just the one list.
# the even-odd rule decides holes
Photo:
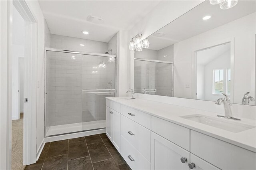
[(230, 42), (196, 51), (196, 99), (216, 101), (231, 94)]

